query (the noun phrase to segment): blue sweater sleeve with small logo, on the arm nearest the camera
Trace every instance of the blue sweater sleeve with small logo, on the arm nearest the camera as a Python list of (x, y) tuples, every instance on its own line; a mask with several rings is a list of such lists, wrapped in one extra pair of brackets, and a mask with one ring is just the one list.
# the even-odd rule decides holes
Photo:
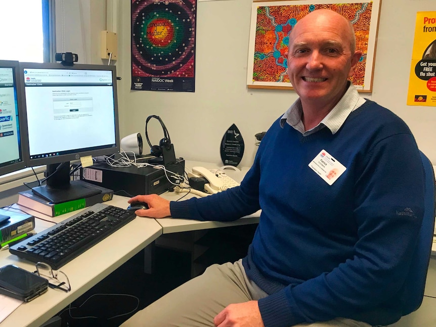
[(359, 239), (353, 257), (331, 271), (260, 299), (266, 327), (335, 317), (363, 320), (362, 312), (397, 300), (424, 211), (423, 167), (411, 134), (383, 139), (368, 157), (355, 181)]

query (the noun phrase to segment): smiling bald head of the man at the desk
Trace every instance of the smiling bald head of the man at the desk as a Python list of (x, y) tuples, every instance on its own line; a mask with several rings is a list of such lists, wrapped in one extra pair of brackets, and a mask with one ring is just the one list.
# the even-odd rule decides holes
[(303, 104), (332, 109), (346, 90), (347, 78), (362, 55), (354, 48), (354, 31), (341, 15), (316, 10), (289, 35), (288, 75)]

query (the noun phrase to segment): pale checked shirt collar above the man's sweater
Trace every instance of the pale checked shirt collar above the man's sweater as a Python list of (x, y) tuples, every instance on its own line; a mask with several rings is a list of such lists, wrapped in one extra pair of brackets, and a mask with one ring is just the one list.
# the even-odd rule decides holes
[(348, 82), (348, 88), (339, 100), (336, 106), (324, 117), (321, 122), (307, 131), (304, 131), (304, 125), (301, 121), (301, 114), (303, 109), (301, 107), (301, 100), (298, 98), (292, 106), (280, 118), (280, 126), (284, 126), (285, 122), (299, 131), (303, 136), (308, 136), (317, 132), (318, 130), (327, 127), (332, 134), (336, 133), (344, 123), (346, 117), (350, 113), (365, 103), (365, 99), (359, 96), (358, 91), (354, 85)]

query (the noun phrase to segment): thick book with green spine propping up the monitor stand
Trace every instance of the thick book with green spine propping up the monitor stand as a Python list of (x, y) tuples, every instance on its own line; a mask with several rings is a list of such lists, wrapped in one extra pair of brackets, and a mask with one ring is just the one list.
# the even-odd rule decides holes
[(100, 189), (102, 192), (88, 198), (56, 204), (41, 197), (38, 197), (32, 192), (32, 190), (27, 190), (23, 192), (18, 192), (17, 203), (20, 206), (35, 210), (47, 216), (56, 217), (63, 215), (64, 213), (72, 212), (75, 210), (83, 209), (85, 207), (90, 207), (97, 203), (112, 200), (113, 190), (102, 188), (98, 185), (93, 185), (93, 187)]

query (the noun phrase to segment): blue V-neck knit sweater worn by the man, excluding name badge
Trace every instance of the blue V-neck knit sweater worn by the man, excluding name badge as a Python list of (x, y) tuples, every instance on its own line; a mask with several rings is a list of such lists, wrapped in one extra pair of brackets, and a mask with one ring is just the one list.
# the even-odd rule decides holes
[[(308, 166), (321, 150), (346, 167), (332, 185)], [(396, 295), (422, 220), (423, 180), (409, 128), (367, 101), (335, 134), (303, 137), (278, 119), (241, 186), (170, 210), (231, 221), (262, 209), (243, 265), (269, 294), (258, 301), (266, 327), (335, 317), (389, 324), (401, 316)]]

